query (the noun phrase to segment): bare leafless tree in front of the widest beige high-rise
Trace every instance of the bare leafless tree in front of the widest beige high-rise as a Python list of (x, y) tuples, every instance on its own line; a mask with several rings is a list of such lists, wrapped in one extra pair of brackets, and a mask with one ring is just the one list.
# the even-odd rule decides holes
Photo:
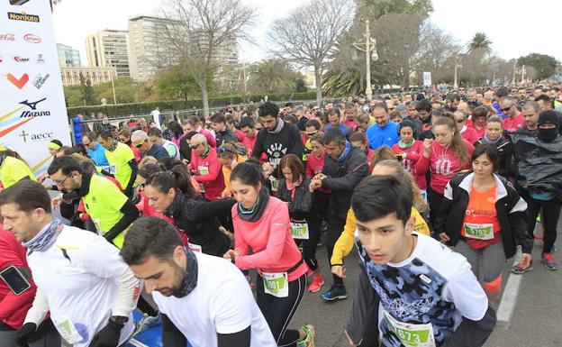
[(223, 53), (236, 50), (237, 40), (249, 40), (257, 12), (241, 0), (167, 0), (161, 16), (167, 56), (160, 57), (160, 66), (179, 65), (195, 78), (208, 115), (207, 85), (227, 63)]

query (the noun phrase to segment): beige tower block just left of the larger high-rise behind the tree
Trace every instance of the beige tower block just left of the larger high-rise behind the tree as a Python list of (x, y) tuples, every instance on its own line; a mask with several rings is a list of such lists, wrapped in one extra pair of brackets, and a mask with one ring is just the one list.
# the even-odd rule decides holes
[(93, 68), (115, 68), (118, 76), (130, 76), (127, 31), (104, 30), (86, 37), (86, 55)]

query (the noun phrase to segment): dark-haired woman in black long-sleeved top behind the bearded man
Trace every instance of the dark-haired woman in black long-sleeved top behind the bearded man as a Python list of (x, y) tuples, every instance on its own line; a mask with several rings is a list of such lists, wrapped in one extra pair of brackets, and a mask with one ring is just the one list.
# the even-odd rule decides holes
[(235, 201), (205, 200), (196, 193), (186, 166), (178, 164), (147, 178), (144, 195), (150, 206), (173, 218), (177, 229), (186, 233), (192, 251), (222, 256), (231, 248), (218, 216), (229, 214)]

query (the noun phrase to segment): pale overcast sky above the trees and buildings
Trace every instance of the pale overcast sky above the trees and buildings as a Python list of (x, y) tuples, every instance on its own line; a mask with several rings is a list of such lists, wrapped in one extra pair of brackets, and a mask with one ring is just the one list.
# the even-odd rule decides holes
[[(240, 59), (255, 61), (266, 57), (263, 46), (269, 25), (303, 0), (246, 0), (258, 8), (259, 23), (251, 30), (258, 45), (242, 43)], [(154, 15), (159, 0), (62, 0), (54, 10), (57, 42), (80, 50), (87, 64), (86, 36), (103, 29), (127, 30), (128, 20), (138, 14)], [(431, 21), (465, 44), (475, 32), (485, 32), (496, 54), (504, 59), (530, 52), (562, 60), (562, 27), (559, 15), (562, 0), (433, 0)]]

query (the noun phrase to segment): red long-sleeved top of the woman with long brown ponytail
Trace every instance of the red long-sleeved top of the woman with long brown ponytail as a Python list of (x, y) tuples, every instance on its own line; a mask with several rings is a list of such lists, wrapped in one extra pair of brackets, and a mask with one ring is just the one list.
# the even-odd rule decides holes
[[(466, 141), (465, 145), (467, 146), (468, 157), (472, 158), (474, 146), (472, 143)], [(433, 141), (431, 142), (430, 159), (421, 155), (420, 160), (418, 160), (416, 164), (416, 173), (425, 175), (427, 170), (431, 169), (430, 187), (435, 192), (443, 194), (449, 180), (460, 170), (470, 169), (470, 167), (470, 160), (468, 160), (467, 164), (461, 165), (450, 146), (447, 151), (445, 151), (445, 149), (440, 146), (439, 142)]]

